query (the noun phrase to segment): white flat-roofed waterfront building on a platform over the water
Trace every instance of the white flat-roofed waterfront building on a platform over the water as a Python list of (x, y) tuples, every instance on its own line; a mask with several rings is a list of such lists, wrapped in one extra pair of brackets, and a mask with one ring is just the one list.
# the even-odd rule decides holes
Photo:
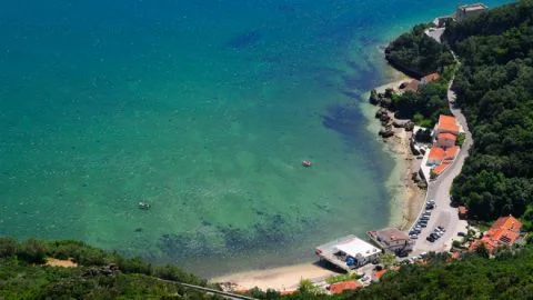
[(381, 250), (350, 234), (316, 247), (316, 256), (338, 268), (351, 272), (378, 260)]

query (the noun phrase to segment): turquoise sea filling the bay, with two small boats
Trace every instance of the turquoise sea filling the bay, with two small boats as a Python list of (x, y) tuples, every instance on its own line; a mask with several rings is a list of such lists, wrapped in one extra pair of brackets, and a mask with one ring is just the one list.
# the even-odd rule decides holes
[(380, 47), (457, 2), (0, 1), (0, 234), (213, 276), (385, 226), (358, 102)]

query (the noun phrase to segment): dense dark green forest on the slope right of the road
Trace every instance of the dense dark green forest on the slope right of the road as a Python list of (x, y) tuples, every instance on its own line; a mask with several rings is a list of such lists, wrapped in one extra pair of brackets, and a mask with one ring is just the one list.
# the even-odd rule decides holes
[(461, 57), (453, 89), (474, 146), (453, 197), (472, 218), (512, 213), (533, 229), (533, 1), (451, 23), (445, 38)]

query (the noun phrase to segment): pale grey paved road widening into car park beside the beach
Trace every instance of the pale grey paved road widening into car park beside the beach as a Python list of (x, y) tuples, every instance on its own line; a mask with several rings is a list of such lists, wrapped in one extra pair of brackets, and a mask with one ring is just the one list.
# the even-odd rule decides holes
[[(450, 87), (451, 86), (452, 83), (450, 83)], [(450, 207), (450, 189), (452, 188), (453, 179), (461, 172), (464, 160), (469, 156), (469, 150), (472, 147), (472, 134), (469, 130), (469, 126), (463, 113), (460, 109), (456, 109), (453, 106), (455, 101), (455, 93), (450, 88), (447, 90), (447, 99), (450, 101), (450, 109), (463, 127), (466, 138), (463, 147), (461, 148), (461, 152), (459, 153), (457, 158), (455, 158), (453, 164), (449, 167), (449, 169), (445, 170), (436, 180), (430, 182), (428, 187), (426, 199), (434, 200), (436, 208), (433, 209), (433, 212), (431, 213), (428, 227), (423, 228), (421, 234), (419, 234), (419, 239), (416, 240), (413, 249), (414, 256), (429, 251), (447, 251), (452, 246), (453, 239), (457, 239), (457, 232), (466, 232), (466, 221), (459, 220), (456, 208)], [(446, 232), (434, 242), (426, 241), (425, 238), (433, 232), (438, 226), (444, 227)]]

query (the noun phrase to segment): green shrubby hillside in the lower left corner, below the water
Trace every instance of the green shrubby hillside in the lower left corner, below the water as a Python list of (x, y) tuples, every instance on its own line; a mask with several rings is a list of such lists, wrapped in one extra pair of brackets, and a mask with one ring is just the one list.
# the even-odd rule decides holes
[[(49, 267), (49, 258), (79, 267)], [(207, 286), (175, 267), (153, 267), (78, 241), (0, 238), (0, 299), (222, 299), (160, 279)]]

